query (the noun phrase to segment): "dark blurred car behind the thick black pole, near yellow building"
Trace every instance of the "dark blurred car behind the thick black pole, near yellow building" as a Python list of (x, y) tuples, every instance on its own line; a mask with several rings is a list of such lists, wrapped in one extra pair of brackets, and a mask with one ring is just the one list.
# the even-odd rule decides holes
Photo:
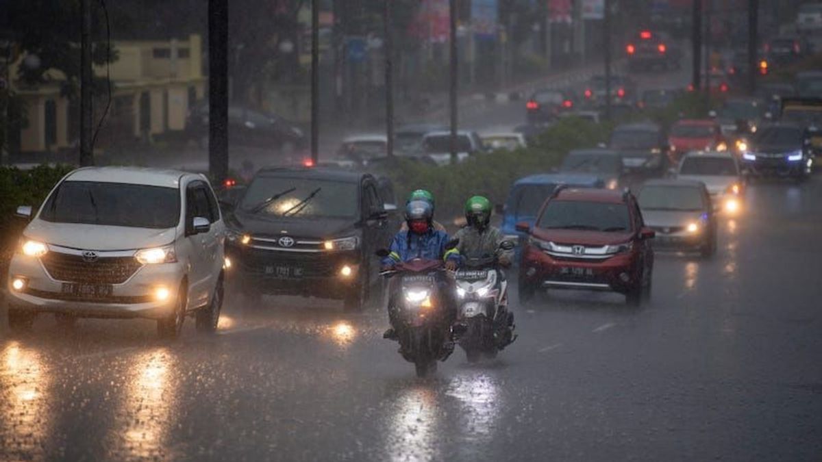
[[(201, 148), (208, 146), (209, 105), (203, 102), (189, 111), (186, 135)], [(273, 113), (263, 113), (242, 106), (229, 106), (229, 138), (236, 146), (276, 148), (293, 151), (304, 149), (307, 139), (302, 129), (293, 122)]]

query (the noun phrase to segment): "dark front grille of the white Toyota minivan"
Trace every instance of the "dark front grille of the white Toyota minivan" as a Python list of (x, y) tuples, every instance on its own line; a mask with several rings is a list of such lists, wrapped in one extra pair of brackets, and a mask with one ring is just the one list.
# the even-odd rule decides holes
[(54, 280), (122, 284), (141, 268), (133, 256), (99, 257), (87, 262), (82, 256), (48, 252), (40, 261)]

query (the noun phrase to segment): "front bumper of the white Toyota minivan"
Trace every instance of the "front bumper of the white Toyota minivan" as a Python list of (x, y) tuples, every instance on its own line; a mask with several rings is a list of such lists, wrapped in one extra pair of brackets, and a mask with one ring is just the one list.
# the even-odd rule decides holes
[[(15, 255), (8, 274), (8, 302), (15, 309), (81, 317), (159, 319), (173, 312), (185, 265), (142, 266), (122, 284), (111, 284), (110, 295), (100, 297), (63, 293), (66, 281), (54, 280), (38, 258)], [(16, 279), (25, 280), (22, 289), (12, 286)], [(159, 288), (167, 289), (163, 299), (156, 295)]]

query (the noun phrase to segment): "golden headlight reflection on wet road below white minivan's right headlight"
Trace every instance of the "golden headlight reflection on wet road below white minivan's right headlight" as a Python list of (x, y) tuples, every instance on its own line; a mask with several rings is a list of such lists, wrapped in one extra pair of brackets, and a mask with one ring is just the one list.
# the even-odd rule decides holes
[(117, 458), (164, 459), (178, 390), (171, 380), (176, 358), (157, 348), (129, 360), (127, 385), (117, 413)]

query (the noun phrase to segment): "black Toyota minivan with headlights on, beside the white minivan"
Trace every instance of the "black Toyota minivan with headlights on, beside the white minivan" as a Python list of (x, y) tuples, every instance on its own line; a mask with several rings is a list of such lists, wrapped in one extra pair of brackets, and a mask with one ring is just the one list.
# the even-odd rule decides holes
[(262, 169), (227, 219), (226, 253), (242, 293), (342, 298), (362, 308), (381, 288), (374, 253), (397, 229), (372, 175)]

